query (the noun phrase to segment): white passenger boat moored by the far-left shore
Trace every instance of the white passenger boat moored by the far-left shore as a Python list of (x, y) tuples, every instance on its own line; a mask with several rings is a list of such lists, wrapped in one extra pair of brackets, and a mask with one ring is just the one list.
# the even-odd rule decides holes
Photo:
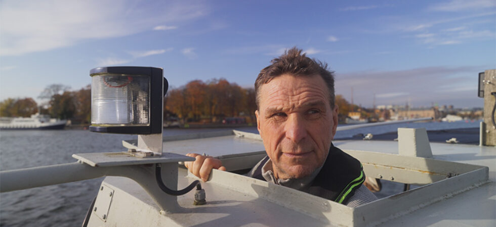
[(66, 120), (35, 113), (30, 118), (0, 118), (0, 129), (64, 129)]

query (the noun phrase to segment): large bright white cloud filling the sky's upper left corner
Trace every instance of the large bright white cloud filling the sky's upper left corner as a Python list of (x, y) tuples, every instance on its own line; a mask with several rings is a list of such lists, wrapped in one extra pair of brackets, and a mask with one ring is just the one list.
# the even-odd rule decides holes
[(187, 23), (209, 13), (202, 1), (3, 1), (0, 54), (21, 55), (88, 39), (122, 37), (157, 24)]

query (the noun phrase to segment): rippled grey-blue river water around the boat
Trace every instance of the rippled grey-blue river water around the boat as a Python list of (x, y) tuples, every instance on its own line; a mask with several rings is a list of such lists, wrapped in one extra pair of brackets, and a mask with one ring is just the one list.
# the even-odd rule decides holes
[[(406, 123), (339, 131), (336, 138), (382, 134), (398, 127), (442, 130), (477, 128), (479, 122)], [(231, 129), (166, 129), (164, 136)], [(257, 133), (255, 127), (238, 130)], [(123, 151), (132, 135), (84, 130), (0, 131), (0, 171), (74, 162), (74, 153)], [(80, 226), (103, 178), (0, 194), (0, 226)]]

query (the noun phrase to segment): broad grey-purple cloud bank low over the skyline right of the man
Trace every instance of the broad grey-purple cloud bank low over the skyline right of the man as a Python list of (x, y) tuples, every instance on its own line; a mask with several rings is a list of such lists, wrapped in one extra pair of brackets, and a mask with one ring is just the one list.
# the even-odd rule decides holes
[(408, 99), (423, 105), (440, 100), (465, 100), (472, 90), (477, 89), (473, 78), (479, 71), (480, 66), (437, 66), (395, 71), (336, 72), (336, 94), (350, 100), (353, 88), (354, 102), (369, 106), (374, 93), (377, 93), (377, 104), (402, 104)]

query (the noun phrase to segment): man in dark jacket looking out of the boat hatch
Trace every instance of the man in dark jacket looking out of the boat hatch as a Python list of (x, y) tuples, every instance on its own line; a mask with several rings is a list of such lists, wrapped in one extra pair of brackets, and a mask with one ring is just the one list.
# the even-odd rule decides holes
[[(287, 50), (255, 81), (255, 115), (267, 156), (249, 176), (352, 207), (373, 201), (362, 185), (360, 162), (332, 144), (338, 125), (334, 76), (301, 52)], [(203, 181), (212, 168), (226, 169), (218, 159), (187, 155), (196, 160), (186, 167)]]

